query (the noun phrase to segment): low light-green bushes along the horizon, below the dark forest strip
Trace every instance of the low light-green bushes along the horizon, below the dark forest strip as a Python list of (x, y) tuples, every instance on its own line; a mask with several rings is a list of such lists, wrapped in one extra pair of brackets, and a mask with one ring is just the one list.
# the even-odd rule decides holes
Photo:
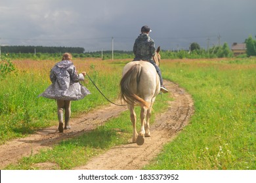
[[(65, 50), (64, 52), (72, 53), (73, 58), (101, 58), (112, 59), (112, 50), (97, 51), (97, 52), (71, 52), (72, 50)], [(64, 52), (30, 52), (30, 53), (12, 53), (2, 52), (2, 56), (8, 55), (11, 59), (30, 58), (30, 59), (60, 59)], [(233, 56), (232, 51), (229, 49), (228, 44), (224, 43), (223, 46), (214, 46), (205, 50), (203, 48), (191, 46), (190, 50), (161, 50), (162, 59), (196, 59), (196, 58), (230, 58)], [(133, 59), (135, 55), (133, 51), (114, 50), (114, 59)]]

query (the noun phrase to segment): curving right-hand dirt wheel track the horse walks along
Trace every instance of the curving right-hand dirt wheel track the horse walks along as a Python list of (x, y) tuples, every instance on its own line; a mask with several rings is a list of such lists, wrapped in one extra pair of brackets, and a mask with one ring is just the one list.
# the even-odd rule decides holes
[(157, 121), (150, 127), (152, 137), (146, 137), (142, 146), (130, 142), (111, 148), (108, 152), (91, 159), (87, 165), (75, 169), (135, 170), (141, 169), (156, 157), (163, 145), (171, 141), (188, 124), (194, 112), (192, 97), (187, 92), (173, 82), (165, 81), (165, 86), (173, 95), (174, 101), (170, 102), (168, 110), (156, 116)]

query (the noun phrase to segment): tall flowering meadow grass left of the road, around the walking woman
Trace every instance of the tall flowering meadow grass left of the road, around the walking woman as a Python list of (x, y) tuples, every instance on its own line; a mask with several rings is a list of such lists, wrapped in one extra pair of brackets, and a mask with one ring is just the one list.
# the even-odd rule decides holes
[[(56, 124), (56, 102), (52, 99), (37, 97), (51, 84), (49, 71), (54, 63), (54, 61), (16, 61), (16, 72), (0, 80), (3, 86), (0, 90), (0, 144)], [(87, 71), (106, 97), (112, 101), (117, 99), (121, 68), (115, 69), (114, 65), (108, 67), (102, 61), (88, 61), (88, 63), (77, 61), (77, 65), (80, 71), (82, 69)], [(112, 68), (111, 73), (110, 68)], [(106, 71), (102, 72), (102, 69)], [(72, 116), (108, 103), (89, 78), (85, 79), (86, 82), (83, 84), (92, 95), (72, 103)]]

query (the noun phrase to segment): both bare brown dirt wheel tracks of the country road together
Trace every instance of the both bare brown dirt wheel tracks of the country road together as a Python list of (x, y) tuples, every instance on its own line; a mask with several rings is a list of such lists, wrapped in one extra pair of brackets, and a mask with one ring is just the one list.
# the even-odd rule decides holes
[[(174, 101), (169, 102), (168, 110), (156, 116), (157, 121), (150, 127), (152, 137), (146, 137), (142, 146), (134, 143), (115, 146), (106, 153), (91, 159), (87, 165), (75, 167), (75, 169), (140, 169), (156, 157), (163, 144), (171, 141), (188, 124), (194, 112), (192, 97), (187, 92), (177, 84), (166, 80), (165, 86), (169, 89), (169, 94), (172, 95)], [(88, 114), (82, 114), (79, 118), (72, 118), (72, 129), (65, 130), (64, 133), (58, 133), (56, 125), (41, 129), (29, 137), (6, 142), (0, 146), (0, 169), (17, 162), (24, 156), (39, 152), (41, 148), (51, 148), (64, 139), (91, 131), (110, 118), (119, 116), (124, 110), (127, 110), (127, 107), (108, 105)], [(58, 165), (51, 163), (40, 163), (35, 166), (39, 169), (58, 169)]]

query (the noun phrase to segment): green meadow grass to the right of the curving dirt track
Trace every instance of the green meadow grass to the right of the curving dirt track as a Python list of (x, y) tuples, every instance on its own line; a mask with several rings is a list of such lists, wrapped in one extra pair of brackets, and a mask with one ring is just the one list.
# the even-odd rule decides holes
[(144, 169), (256, 169), (256, 60), (163, 65), (163, 77), (191, 93), (195, 114)]

